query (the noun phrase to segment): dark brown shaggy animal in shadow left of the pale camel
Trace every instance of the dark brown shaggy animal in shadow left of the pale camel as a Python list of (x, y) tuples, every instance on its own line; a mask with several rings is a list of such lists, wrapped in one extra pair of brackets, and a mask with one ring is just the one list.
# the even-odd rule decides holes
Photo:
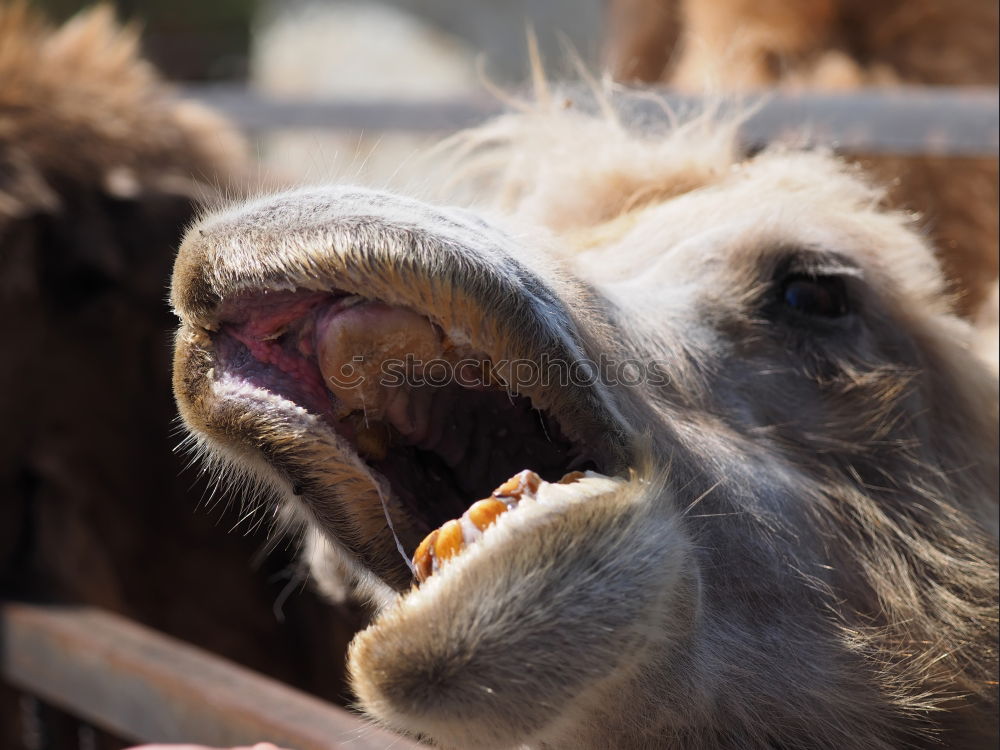
[(121, 612), (336, 697), (335, 634), (361, 618), (296, 596), (279, 623), (288, 580), (267, 575), (288, 556), (254, 575), (265, 540), (196, 512), (205, 483), (174, 453), (176, 245), (248, 165), (137, 47), (107, 8), (56, 30), (0, 4), (0, 594)]

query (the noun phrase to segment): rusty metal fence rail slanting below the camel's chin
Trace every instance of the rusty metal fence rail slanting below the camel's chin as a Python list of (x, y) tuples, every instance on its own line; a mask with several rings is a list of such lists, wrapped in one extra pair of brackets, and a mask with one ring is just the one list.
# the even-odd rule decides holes
[(336, 706), (91, 608), (4, 604), (0, 674), (114, 735), (213, 746), (414, 750)]

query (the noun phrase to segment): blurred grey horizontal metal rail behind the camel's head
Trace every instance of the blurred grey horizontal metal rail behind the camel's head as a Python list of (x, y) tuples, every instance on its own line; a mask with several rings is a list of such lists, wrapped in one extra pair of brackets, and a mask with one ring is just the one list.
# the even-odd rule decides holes
[[(504, 110), (496, 99), (469, 96), (439, 100), (282, 99), (232, 86), (187, 88), (240, 127), (261, 132), (276, 129), (447, 132), (482, 122)], [(996, 88), (902, 87), (849, 93), (769, 92), (731, 97), (723, 111), (751, 109), (743, 127), (752, 145), (788, 133), (808, 142), (844, 150), (881, 154), (936, 154), (996, 157), (1000, 141)], [(583, 106), (593, 95), (581, 89), (573, 97)], [(689, 112), (704, 99), (668, 89), (613, 95), (630, 120), (655, 123), (667, 110)]]

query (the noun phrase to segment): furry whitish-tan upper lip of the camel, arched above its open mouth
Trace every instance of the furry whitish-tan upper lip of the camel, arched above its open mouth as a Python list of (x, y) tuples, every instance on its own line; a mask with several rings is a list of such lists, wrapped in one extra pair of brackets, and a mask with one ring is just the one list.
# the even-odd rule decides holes
[[(289, 216), (299, 217), (289, 225)], [(262, 198), (195, 225), (171, 297), (182, 329), (217, 331), (243, 298), (357, 294), (427, 316), (494, 360), (587, 360), (571, 311), (482, 219), (388, 193), (325, 187)], [(579, 290), (578, 290), (579, 291)], [(526, 389), (530, 391), (530, 389)], [(600, 434), (623, 465), (629, 430), (601, 383), (529, 392), (575, 437)]]

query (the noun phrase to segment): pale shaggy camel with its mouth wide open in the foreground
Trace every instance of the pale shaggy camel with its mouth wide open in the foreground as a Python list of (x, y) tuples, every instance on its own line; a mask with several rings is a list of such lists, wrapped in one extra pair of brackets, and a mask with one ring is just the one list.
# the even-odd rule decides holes
[(710, 119), (459, 152), (478, 207), (303, 188), (174, 271), (197, 450), (380, 604), (361, 706), (449, 748), (994, 744), (997, 382), (912, 221)]

